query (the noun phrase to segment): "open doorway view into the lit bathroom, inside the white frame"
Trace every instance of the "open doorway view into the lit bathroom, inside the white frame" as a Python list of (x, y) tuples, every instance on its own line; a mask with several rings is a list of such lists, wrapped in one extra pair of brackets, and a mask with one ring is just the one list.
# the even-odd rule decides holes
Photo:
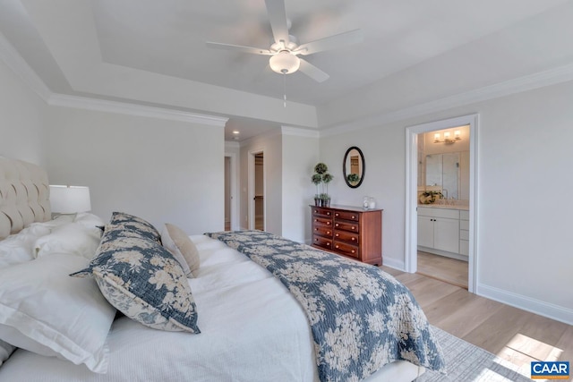
[(417, 134), (417, 273), (466, 289), (469, 136), (469, 125)]

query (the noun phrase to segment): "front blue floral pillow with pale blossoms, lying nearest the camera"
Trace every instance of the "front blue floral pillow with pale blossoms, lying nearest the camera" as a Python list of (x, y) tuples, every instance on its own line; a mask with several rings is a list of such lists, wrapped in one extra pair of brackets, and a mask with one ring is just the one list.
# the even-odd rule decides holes
[(183, 268), (158, 242), (145, 235), (122, 236), (107, 227), (90, 266), (71, 276), (94, 276), (117, 310), (147, 327), (201, 333)]

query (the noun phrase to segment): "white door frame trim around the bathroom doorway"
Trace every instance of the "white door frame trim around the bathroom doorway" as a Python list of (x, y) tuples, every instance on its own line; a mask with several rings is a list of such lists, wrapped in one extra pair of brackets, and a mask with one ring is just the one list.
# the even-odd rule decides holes
[(406, 272), (415, 273), (417, 260), (417, 205), (418, 205), (418, 134), (470, 125), (469, 138), (469, 254), (467, 289), (475, 293), (478, 284), (478, 177), (477, 148), (479, 115), (463, 115), (446, 120), (406, 127)]

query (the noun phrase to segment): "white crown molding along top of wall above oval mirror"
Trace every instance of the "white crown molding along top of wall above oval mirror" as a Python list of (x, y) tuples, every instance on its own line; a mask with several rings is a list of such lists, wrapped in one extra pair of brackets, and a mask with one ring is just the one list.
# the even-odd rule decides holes
[(567, 64), (543, 72), (536, 72), (517, 79), (503, 81), (483, 88), (466, 91), (454, 96), (436, 99), (423, 104), (409, 106), (389, 113), (372, 115), (351, 123), (340, 123), (321, 129), (321, 137), (353, 132), (368, 127), (404, 121), (421, 115), (437, 113), (458, 106), (466, 106), (488, 99), (510, 96), (527, 90), (539, 89), (561, 82), (573, 81), (573, 64)]

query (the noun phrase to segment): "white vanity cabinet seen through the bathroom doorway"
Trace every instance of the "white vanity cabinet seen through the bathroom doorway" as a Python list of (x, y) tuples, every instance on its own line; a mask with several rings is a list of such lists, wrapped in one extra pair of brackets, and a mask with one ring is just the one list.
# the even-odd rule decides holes
[(460, 253), (460, 211), (454, 208), (418, 207), (418, 249), (455, 259)]

